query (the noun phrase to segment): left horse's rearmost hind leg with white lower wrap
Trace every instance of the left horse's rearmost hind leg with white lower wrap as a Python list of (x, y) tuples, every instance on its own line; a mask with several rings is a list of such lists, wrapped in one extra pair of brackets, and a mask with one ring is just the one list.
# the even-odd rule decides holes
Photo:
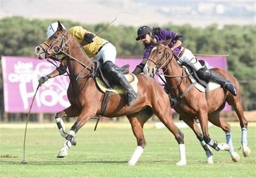
[(187, 160), (186, 160), (186, 149), (184, 144), (184, 135), (182, 131), (180, 131), (179, 128), (177, 128), (177, 126), (175, 126), (170, 110), (166, 112), (163, 112), (163, 111), (156, 112), (155, 114), (157, 115), (159, 120), (164, 124), (164, 126), (166, 126), (166, 128), (168, 128), (168, 130), (173, 133), (175, 139), (179, 144), (180, 161), (176, 163), (176, 165), (177, 166), (186, 165)]

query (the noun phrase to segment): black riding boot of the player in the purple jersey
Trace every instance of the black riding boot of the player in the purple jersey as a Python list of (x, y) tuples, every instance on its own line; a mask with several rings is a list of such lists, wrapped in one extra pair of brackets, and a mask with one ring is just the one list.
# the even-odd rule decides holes
[(232, 84), (229, 80), (220, 77), (220, 75), (218, 75), (214, 71), (205, 68), (200, 68), (200, 70), (198, 70), (196, 73), (198, 77), (202, 78), (203, 80), (212, 80), (214, 82), (217, 82), (234, 96), (237, 95), (236, 86)]

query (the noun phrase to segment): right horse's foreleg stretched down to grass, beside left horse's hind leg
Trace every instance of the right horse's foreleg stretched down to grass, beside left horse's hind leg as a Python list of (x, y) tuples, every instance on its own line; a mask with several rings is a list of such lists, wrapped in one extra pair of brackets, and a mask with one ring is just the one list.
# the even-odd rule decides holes
[(200, 129), (199, 129), (198, 125), (195, 122), (195, 119), (188, 119), (187, 117), (182, 116), (182, 120), (186, 124), (188, 124), (189, 128), (191, 128), (194, 131), (194, 133), (196, 135), (196, 138), (200, 141), (200, 144), (204, 148), (205, 154), (207, 156), (207, 163), (208, 164), (213, 164), (212, 152), (209, 149), (208, 145), (205, 144), (204, 137), (203, 137), (202, 133), (200, 132)]

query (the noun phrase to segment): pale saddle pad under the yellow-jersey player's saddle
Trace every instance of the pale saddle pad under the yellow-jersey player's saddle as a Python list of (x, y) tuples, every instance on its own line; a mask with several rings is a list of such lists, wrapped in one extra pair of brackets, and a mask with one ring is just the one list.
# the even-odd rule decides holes
[[(131, 84), (134, 91), (136, 93), (138, 93), (138, 85), (137, 85), (138, 78), (136, 77), (136, 75), (134, 75), (132, 73), (128, 73), (124, 76), (128, 80), (128, 82)], [(102, 82), (102, 80), (99, 77), (95, 77), (95, 81), (96, 81), (96, 84), (98, 85), (98, 87), (100, 88), (100, 90), (104, 93), (106, 93), (106, 91), (111, 91), (112, 94), (125, 94), (125, 89), (120, 85), (115, 85), (113, 87), (113, 89), (108, 89), (106, 87), (106, 84), (104, 84), (104, 82)]]

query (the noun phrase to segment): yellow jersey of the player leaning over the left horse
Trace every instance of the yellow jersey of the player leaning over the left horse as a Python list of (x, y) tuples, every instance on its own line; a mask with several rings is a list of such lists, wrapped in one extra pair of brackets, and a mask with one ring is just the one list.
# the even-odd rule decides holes
[[(85, 34), (91, 33), (90, 31), (83, 29), (83, 27), (81, 27), (81, 26), (72, 27), (72, 28), (68, 29), (68, 32), (70, 34), (72, 34), (72, 36), (79, 43), (81, 43), (81, 41), (84, 40)], [(100, 38), (99, 36), (95, 36), (95, 38), (93, 38), (93, 40), (94, 41), (92, 43), (83, 46), (83, 50), (87, 54), (88, 57), (95, 57), (99, 48), (107, 41), (107, 40), (104, 40), (103, 38)]]

